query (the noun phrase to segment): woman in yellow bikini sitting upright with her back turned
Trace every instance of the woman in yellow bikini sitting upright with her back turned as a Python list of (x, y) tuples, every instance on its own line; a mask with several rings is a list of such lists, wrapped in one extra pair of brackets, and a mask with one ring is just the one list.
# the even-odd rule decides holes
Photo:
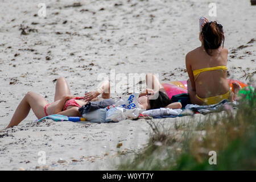
[(228, 49), (224, 48), (222, 26), (207, 19), (205, 22), (199, 35), (201, 46), (189, 52), (185, 60), (189, 97), (197, 105), (217, 104), (224, 99), (233, 101), (241, 88), (234, 83), (233, 93), (226, 80)]

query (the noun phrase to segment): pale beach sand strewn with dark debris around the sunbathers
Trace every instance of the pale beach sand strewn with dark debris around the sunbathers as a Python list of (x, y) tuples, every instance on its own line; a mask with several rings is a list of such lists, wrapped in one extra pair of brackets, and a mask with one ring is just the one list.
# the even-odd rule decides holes
[[(187, 80), (185, 55), (200, 46), (199, 17), (217, 20), (229, 50), (228, 78), (247, 83), (256, 73), (256, 6), (250, 1), (41, 1), (0, 2), (0, 130), (27, 92), (53, 101), (55, 81), (65, 77), (71, 94), (83, 96), (101, 73), (158, 73), (161, 82)], [(114, 90), (114, 88), (112, 88)], [(127, 90), (111, 97), (127, 97)], [(196, 118), (204, 117), (196, 114)], [(191, 117), (154, 119), (170, 129)], [(0, 170), (114, 170), (146, 146), (145, 119), (118, 123), (34, 123), (0, 131)], [(40, 164), (40, 151), (46, 163)]]

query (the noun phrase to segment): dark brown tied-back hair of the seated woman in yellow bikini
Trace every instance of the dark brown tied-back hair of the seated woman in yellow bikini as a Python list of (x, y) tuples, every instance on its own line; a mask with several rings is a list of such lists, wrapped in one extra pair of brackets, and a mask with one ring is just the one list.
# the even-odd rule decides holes
[(221, 24), (216, 21), (206, 23), (202, 29), (201, 35), (204, 39), (204, 49), (210, 55), (210, 49), (224, 47), (225, 36)]

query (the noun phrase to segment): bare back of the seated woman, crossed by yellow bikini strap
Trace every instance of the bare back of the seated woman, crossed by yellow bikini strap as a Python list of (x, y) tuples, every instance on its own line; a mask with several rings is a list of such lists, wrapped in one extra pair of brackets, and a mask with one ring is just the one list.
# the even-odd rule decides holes
[[(192, 71), (196, 69), (226, 66), (228, 50), (218, 48), (208, 55), (203, 47), (199, 47), (189, 52), (189, 64)], [(201, 98), (218, 96), (229, 91), (229, 84), (226, 80), (226, 71), (222, 69), (201, 72), (195, 81), (196, 94)]]

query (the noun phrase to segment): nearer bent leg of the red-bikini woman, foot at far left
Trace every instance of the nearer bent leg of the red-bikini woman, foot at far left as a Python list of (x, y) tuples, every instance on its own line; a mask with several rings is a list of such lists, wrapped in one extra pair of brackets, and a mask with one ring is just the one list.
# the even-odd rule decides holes
[(47, 104), (48, 102), (39, 94), (28, 92), (18, 105), (13, 118), (11, 118), (9, 125), (6, 128), (19, 125), (19, 123), (27, 117), (30, 109), (33, 110), (38, 119), (45, 117), (44, 106)]

